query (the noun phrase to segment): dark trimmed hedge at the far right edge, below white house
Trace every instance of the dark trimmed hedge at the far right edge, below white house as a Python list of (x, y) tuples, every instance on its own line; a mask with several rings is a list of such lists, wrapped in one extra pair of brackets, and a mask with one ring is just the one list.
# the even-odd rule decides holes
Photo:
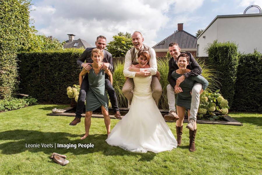
[(242, 54), (235, 83), (233, 109), (262, 112), (262, 54)]

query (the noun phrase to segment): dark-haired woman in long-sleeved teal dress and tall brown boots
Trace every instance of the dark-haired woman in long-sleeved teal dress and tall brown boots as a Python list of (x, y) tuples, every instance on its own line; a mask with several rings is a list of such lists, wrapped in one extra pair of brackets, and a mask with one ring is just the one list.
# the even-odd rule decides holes
[[(179, 78), (183, 74), (190, 72), (191, 70), (187, 69), (188, 64), (189, 64), (189, 56), (187, 54), (181, 53), (177, 57), (177, 66), (179, 69), (173, 71), (172, 78), (177, 80), (177, 78)], [(177, 99), (176, 99), (177, 115), (179, 117), (179, 119), (176, 121), (176, 126), (183, 125), (185, 110), (188, 111), (188, 118), (190, 117), (191, 90), (196, 82), (202, 84), (202, 89), (200, 91), (201, 94), (208, 87), (208, 81), (203, 76), (198, 75), (198, 76), (187, 77), (179, 85), (180, 88), (182, 89), (182, 92), (177, 94)], [(189, 139), (190, 139), (189, 150), (191, 152), (196, 150), (195, 137), (196, 137), (196, 122), (194, 122), (194, 130), (192, 131), (191, 129), (189, 129)], [(182, 135), (180, 135), (180, 138), (177, 138), (177, 142), (178, 141), (181, 142), (181, 139), (182, 139)]]

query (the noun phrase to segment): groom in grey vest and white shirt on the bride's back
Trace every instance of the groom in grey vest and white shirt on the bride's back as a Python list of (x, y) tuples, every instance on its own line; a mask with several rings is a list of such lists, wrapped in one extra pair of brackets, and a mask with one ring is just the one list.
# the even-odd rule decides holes
[[(154, 49), (143, 44), (143, 41), (144, 38), (142, 37), (142, 34), (139, 31), (135, 31), (132, 35), (132, 43), (134, 47), (131, 48), (129, 51), (127, 51), (125, 57), (123, 73), (125, 77), (128, 77), (128, 79), (126, 80), (126, 83), (122, 88), (122, 92), (124, 96), (128, 99), (129, 105), (131, 105), (131, 101), (133, 98), (133, 92), (132, 92), (134, 88), (133, 78), (135, 76), (146, 77), (150, 75), (155, 75), (157, 73), (156, 53)], [(138, 64), (137, 54), (141, 49), (147, 49), (150, 53), (150, 60), (149, 60), (150, 68), (148, 69), (140, 69), (134, 66)], [(152, 77), (151, 88), (153, 90), (153, 98), (158, 106), (158, 101), (162, 95), (162, 88), (156, 76)]]

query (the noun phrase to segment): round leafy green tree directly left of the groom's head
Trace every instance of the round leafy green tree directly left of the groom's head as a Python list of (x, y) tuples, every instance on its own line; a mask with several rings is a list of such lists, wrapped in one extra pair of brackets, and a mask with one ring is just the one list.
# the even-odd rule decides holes
[(132, 36), (130, 33), (119, 32), (113, 36), (113, 41), (107, 45), (107, 50), (113, 57), (124, 57), (126, 52), (133, 47)]

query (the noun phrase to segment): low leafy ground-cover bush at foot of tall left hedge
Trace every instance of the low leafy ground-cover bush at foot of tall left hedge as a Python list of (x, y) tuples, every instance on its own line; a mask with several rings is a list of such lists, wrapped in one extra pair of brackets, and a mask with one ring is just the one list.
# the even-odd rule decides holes
[(0, 111), (9, 111), (14, 109), (20, 109), (25, 106), (31, 106), (37, 104), (37, 99), (32, 97), (23, 97), (22, 99), (11, 98), (0, 100)]

